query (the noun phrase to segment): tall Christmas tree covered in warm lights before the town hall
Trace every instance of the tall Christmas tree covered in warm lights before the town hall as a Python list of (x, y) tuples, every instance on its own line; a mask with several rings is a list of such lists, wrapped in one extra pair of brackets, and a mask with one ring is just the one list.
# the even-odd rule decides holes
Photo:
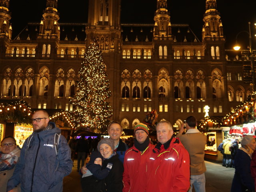
[(84, 61), (79, 71), (78, 90), (70, 103), (75, 107), (74, 118), (78, 126), (101, 130), (108, 126), (112, 110), (106, 101), (111, 93), (108, 91), (106, 66), (103, 62), (98, 42), (93, 40), (86, 50)]

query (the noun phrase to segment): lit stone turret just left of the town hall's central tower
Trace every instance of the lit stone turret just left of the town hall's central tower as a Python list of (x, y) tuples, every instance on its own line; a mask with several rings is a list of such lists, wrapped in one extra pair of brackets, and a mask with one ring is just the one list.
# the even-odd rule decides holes
[(57, 0), (47, 0), (46, 9), (44, 10), (43, 18), (40, 23), (38, 38), (59, 39), (60, 26), (58, 20), (60, 19), (59, 12), (57, 10)]

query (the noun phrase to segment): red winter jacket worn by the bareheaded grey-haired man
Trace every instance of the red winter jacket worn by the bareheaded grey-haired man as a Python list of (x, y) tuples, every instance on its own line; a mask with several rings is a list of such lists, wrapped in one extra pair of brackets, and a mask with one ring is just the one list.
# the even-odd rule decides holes
[(178, 138), (158, 143), (148, 161), (146, 192), (187, 192), (190, 187), (190, 159)]

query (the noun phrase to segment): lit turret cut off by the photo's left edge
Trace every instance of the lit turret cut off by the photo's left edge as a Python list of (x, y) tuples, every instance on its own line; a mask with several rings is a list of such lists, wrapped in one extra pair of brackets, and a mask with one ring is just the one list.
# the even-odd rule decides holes
[[(9, 0), (0, 1), (0, 38), (12, 38), (11, 14), (9, 11)], [(4, 35), (4, 36), (2, 36)]]

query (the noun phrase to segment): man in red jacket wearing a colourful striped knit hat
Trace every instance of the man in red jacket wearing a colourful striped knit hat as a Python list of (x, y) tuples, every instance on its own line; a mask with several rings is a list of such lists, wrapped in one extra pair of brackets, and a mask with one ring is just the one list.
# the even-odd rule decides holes
[(154, 148), (150, 144), (148, 127), (140, 123), (134, 127), (134, 145), (124, 156), (123, 192), (144, 192), (147, 184), (147, 159)]

